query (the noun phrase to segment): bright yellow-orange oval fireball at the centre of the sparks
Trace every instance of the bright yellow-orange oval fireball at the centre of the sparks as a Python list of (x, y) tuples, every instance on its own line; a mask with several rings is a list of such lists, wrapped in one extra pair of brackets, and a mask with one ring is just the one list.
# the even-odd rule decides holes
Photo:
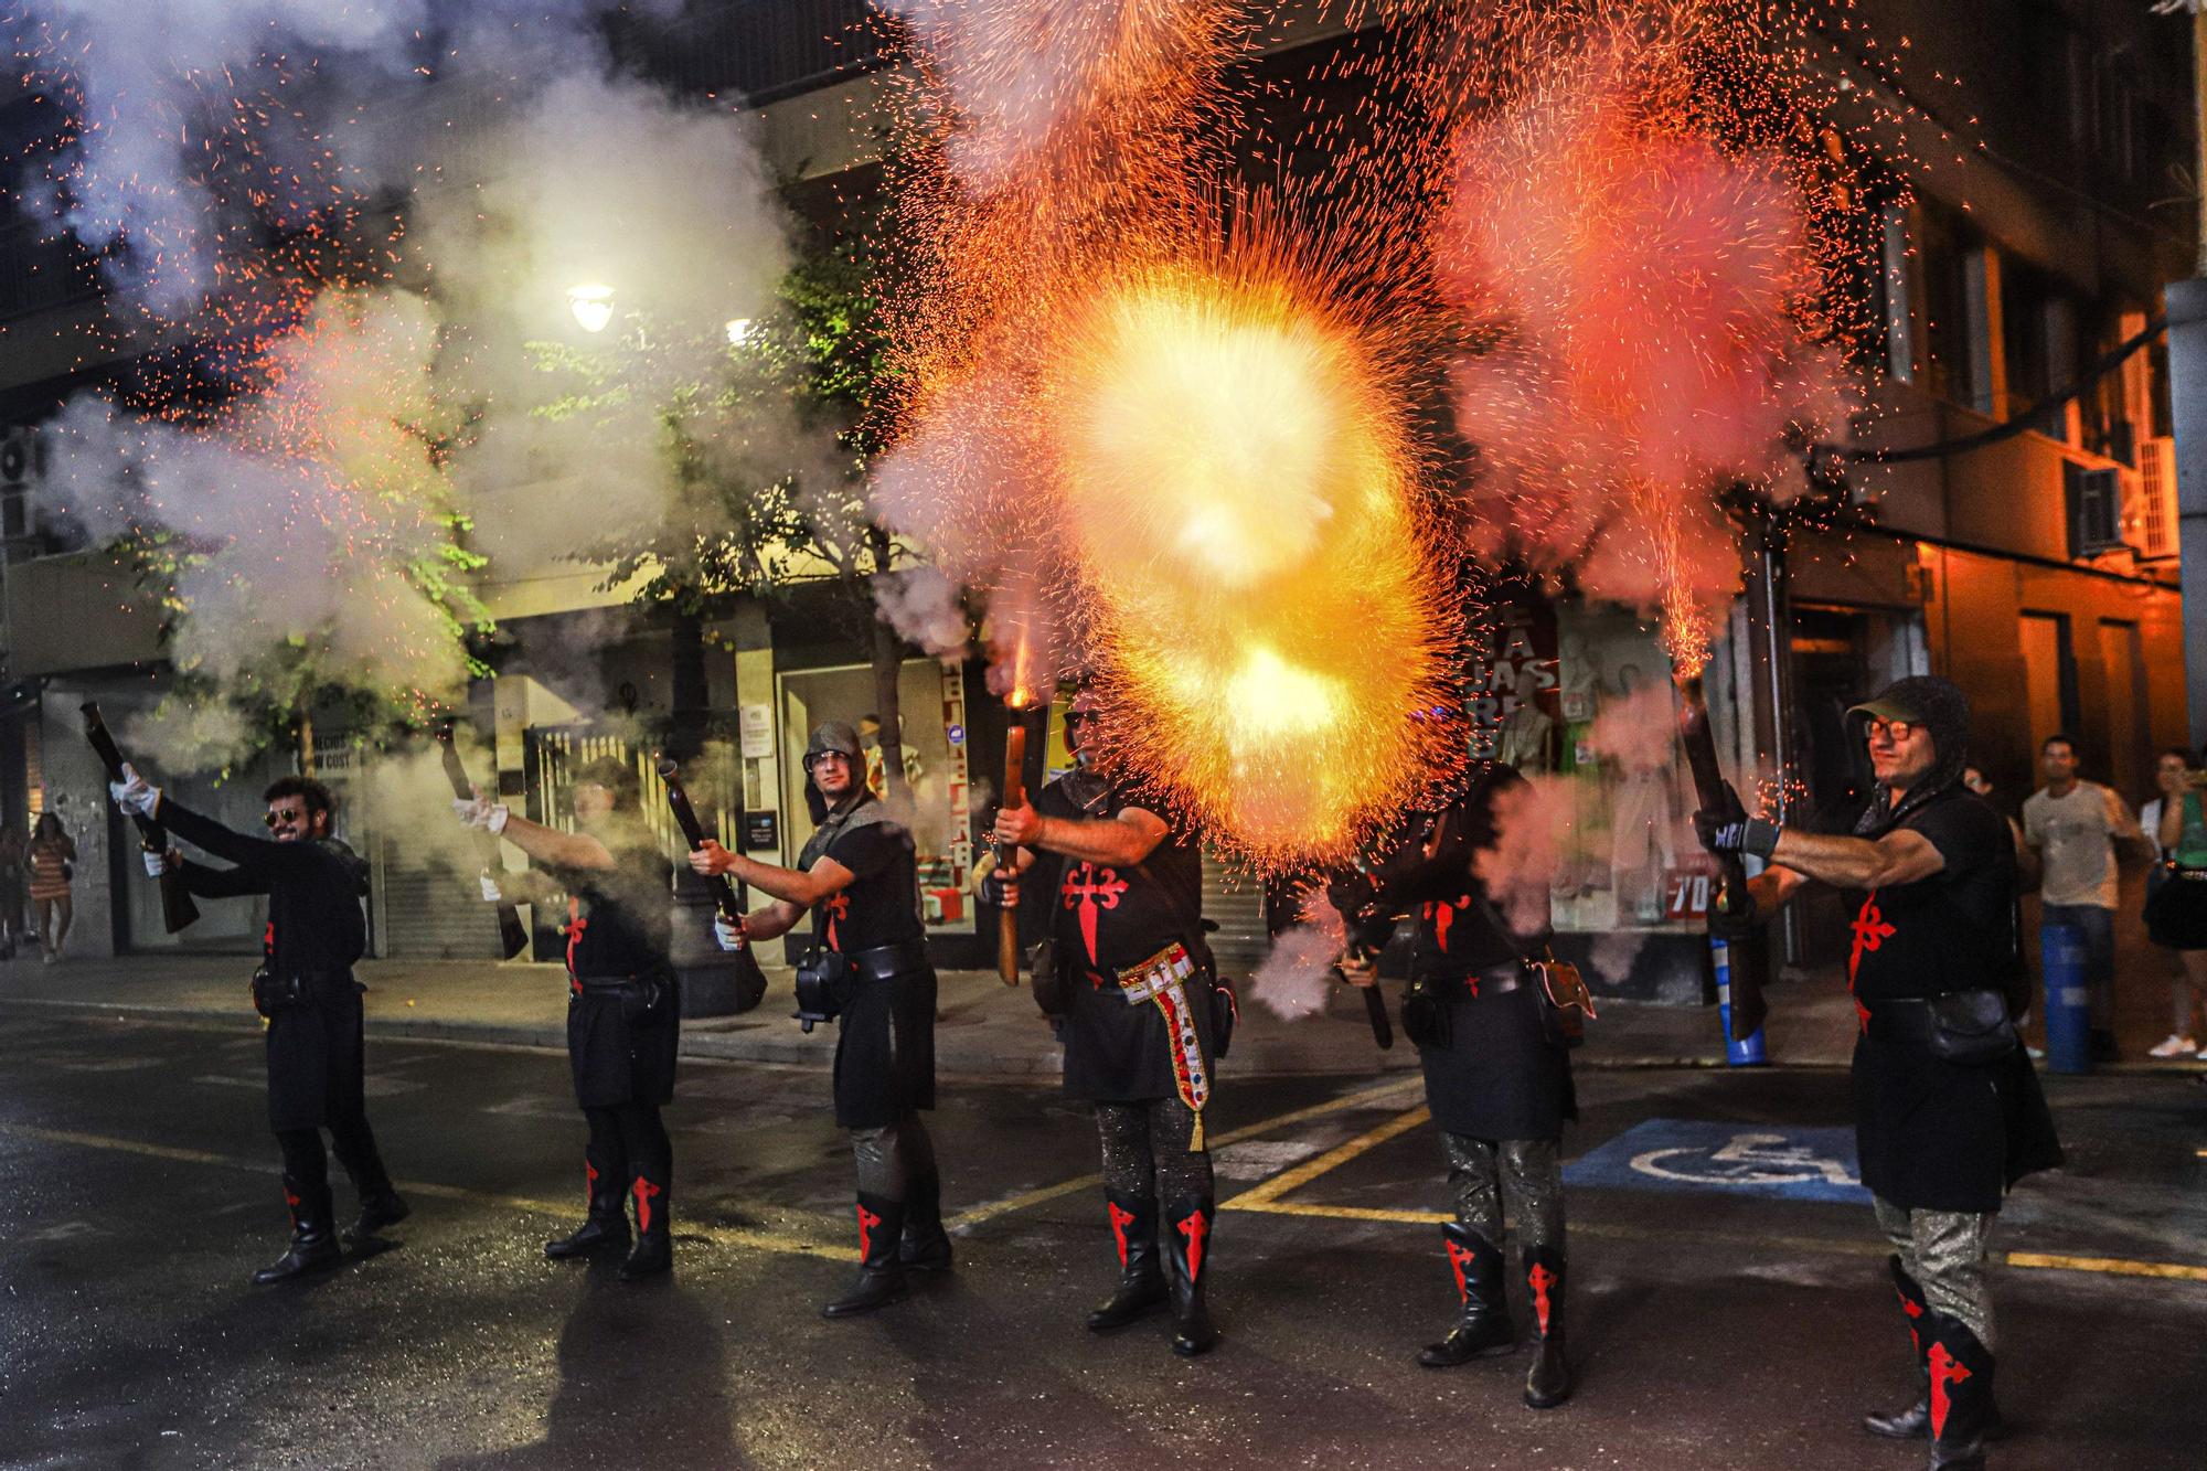
[(1408, 797), (1441, 698), (1435, 539), (1366, 334), (1262, 247), (1075, 307), (1051, 448), (1117, 744), (1258, 861)]

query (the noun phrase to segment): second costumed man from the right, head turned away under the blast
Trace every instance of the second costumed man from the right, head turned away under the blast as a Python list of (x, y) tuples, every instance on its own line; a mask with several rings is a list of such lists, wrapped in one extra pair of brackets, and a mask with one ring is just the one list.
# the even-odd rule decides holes
[[(1461, 1316), (1417, 1361), (1446, 1369), (1516, 1347), (1503, 1288), (1507, 1221), (1516, 1228), (1534, 1319), (1525, 1403), (1552, 1409), (1571, 1396), (1560, 1149), (1563, 1122), (1578, 1118), (1578, 1100), (1569, 1054), (1552, 1036), (1540, 972), (1529, 963), (1547, 950), (1547, 886), (1534, 888), (1538, 914), (1527, 917), (1523, 895), (1496, 895), (1479, 866), (1523, 793), (1525, 777), (1514, 766), (1474, 766), (1437, 811), (1406, 817), (1368, 877), (1379, 890), (1375, 912), (1408, 912), (1417, 921), (1401, 1020), (1426, 1071), (1426, 1104), (1441, 1131), (1457, 1217), (1441, 1226), (1441, 1246)], [(1368, 959), (1375, 952), (1377, 945), (1351, 950), (1342, 974), (1375, 985)]]

